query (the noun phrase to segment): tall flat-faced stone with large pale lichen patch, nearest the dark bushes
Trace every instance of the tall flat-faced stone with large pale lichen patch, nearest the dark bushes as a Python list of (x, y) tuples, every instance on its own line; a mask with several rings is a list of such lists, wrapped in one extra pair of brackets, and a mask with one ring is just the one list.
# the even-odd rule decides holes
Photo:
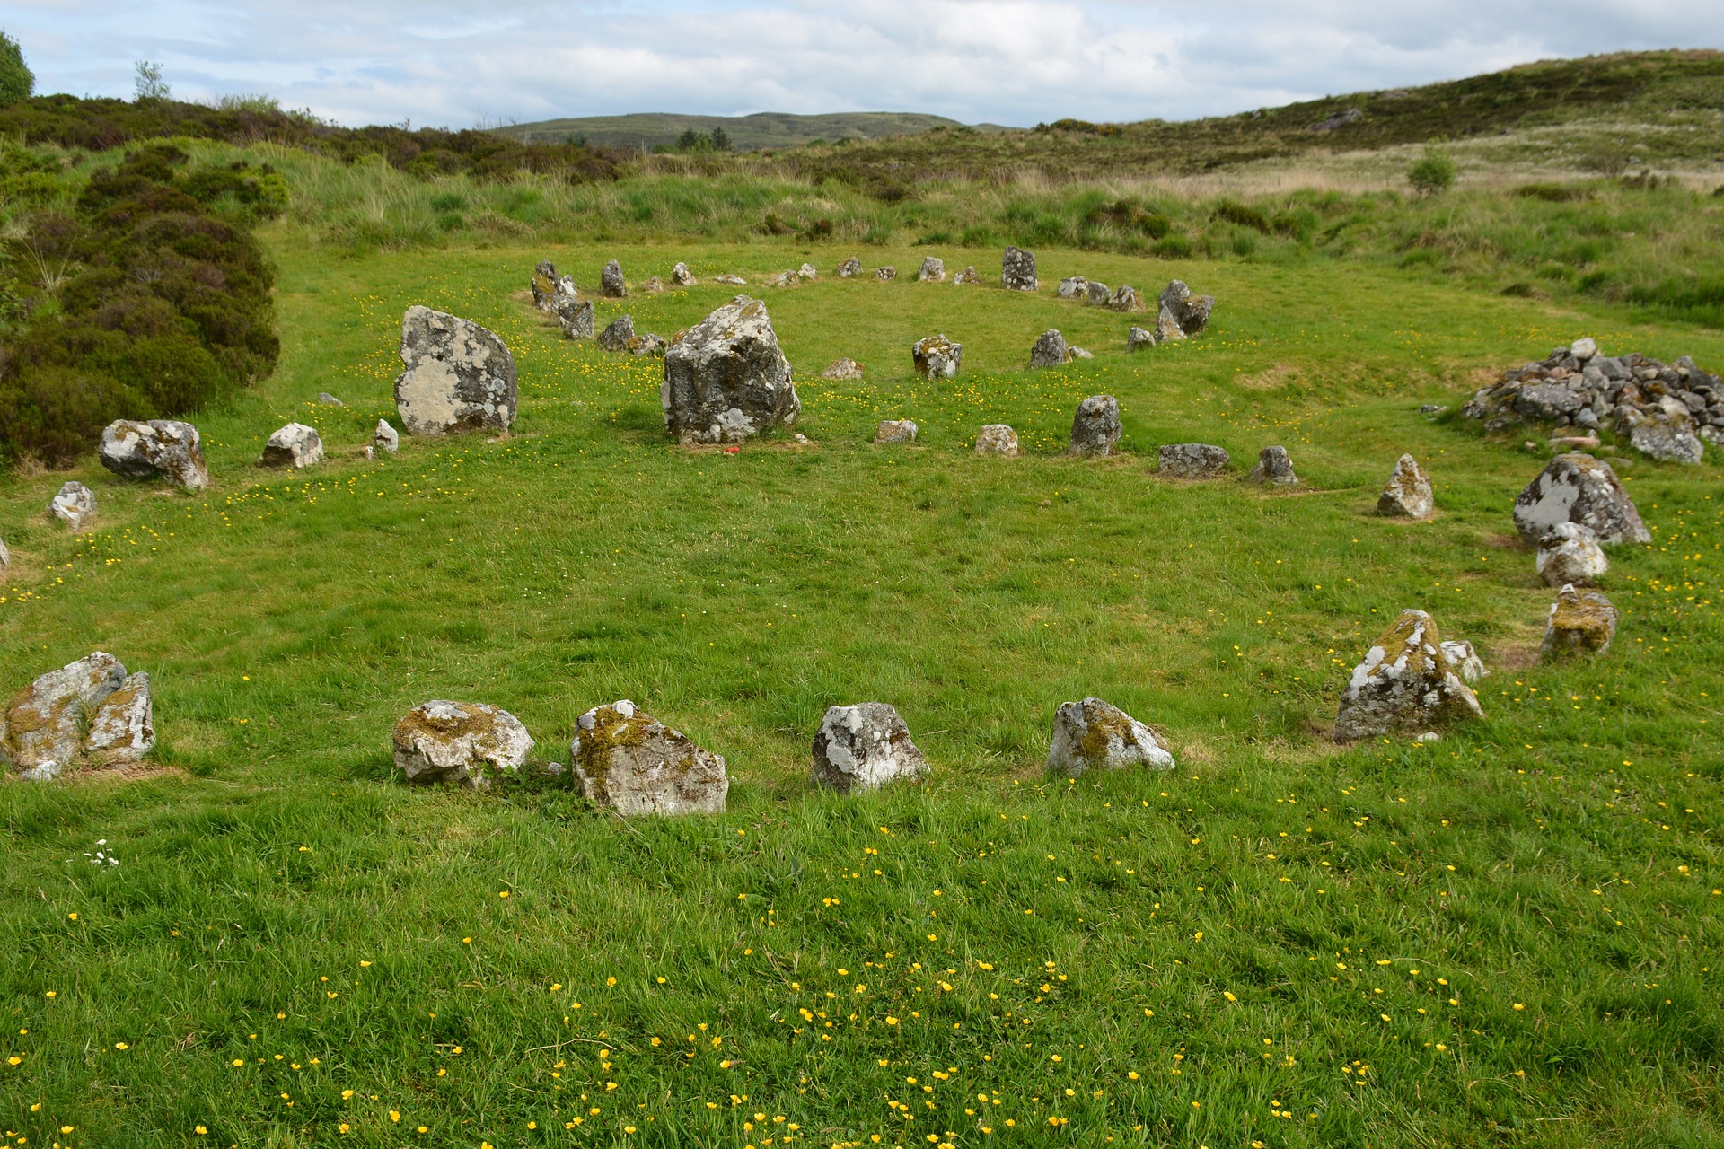
[(515, 422), (515, 358), (479, 324), (409, 307), (402, 365), (395, 410), (407, 434), (509, 431)]

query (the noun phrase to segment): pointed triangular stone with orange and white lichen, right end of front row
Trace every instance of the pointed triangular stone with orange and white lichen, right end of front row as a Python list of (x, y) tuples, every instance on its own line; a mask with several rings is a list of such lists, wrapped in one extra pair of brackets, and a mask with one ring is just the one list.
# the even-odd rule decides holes
[(1431, 615), (1403, 610), (1353, 667), (1334, 718), (1334, 741), (1421, 734), (1483, 713), (1472, 687), (1443, 653), (1443, 637)]

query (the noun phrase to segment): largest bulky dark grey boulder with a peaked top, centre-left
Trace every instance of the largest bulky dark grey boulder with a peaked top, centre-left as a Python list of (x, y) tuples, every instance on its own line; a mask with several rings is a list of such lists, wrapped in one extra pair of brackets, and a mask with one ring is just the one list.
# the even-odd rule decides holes
[(664, 355), (664, 425), (678, 441), (738, 443), (802, 413), (765, 303), (738, 295)]

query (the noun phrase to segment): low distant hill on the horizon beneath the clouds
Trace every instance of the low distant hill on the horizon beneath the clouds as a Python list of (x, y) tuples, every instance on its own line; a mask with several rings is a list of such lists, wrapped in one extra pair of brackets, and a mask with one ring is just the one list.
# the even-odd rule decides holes
[[(840, 140), (883, 140), (886, 136), (912, 136), (931, 127), (962, 127), (945, 115), (921, 112), (833, 112), (829, 115), (790, 115), (788, 112), (755, 112), (753, 115), (679, 115), (674, 112), (634, 112), (631, 115), (578, 115), (547, 119), (534, 124), (498, 127), (498, 134), (522, 143), (567, 143), (584, 140), (597, 148), (626, 152), (653, 150), (674, 145), (684, 131), (710, 136), (722, 127), (736, 152), (760, 148), (790, 148), (802, 143), (836, 143)], [(998, 131), (995, 124), (979, 124), (983, 131)]]

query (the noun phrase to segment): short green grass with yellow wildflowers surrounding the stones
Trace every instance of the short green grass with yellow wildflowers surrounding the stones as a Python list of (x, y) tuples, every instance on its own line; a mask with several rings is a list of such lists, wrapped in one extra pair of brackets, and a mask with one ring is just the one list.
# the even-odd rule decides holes
[[(996, 248), (869, 248), (898, 281), (765, 293), (814, 446), (724, 455), (665, 441), (657, 360), (531, 310), (534, 260), (591, 291), (612, 255), (759, 279), (850, 248), (297, 236), (265, 233), (281, 369), (197, 420), (209, 493), (93, 460), (0, 479), (0, 693), (107, 649), (152, 672), (162, 737), (133, 777), (0, 787), (9, 1142), (1724, 1144), (1719, 456), (1622, 469), (1657, 541), (1612, 553), (1615, 646), (1541, 667), (1553, 594), (1508, 508), (1546, 451), (1417, 413), (1581, 334), (1717, 369), (1724, 332), (1059, 250), (1026, 298), (907, 281), (928, 252), (996, 274)], [(1052, 298), (1074, 272), (1221, 303), (1127, 358), (1129, 317)], [(671, 334), (729, 293), (628, 307)], [(410, 303), (509, 341), (515, 434), (357, 458)], [(1024, 370), (1046, 327), (1096, 358)], [(910, 376), (934, 331), (955, 382)], [(867, 377), (822, 382), (838, 355)], [(1060, 456), (1100, 391), (1124, 453)], [(919, 443), (872, 446), (886, 417)], [(290, 419), (331, 462), (257, 470)], [(971, 455), (984, 422), (1028, 456)], [(1283, 443), (1303, 482), (1162, 481), (1169, 441), (1240, 474)], [(1434, 522), (1372, 513), (1403, 450)], [(93, 536), (43, 513), (67, 477)], [(1486, 718), (1340, 749), (1340, 687), (1405, 606), (1481, 648)], [(1050, 780), (1053, 710), (1086, 694), (1177, 770)], [(509, 708), (545, 761), (633, 698), (726, 755), (731, 810), (407, 787), (388, 734), (431, 698)], [(929, 780), (815, 792), (822, 710), (865, 699)]]

